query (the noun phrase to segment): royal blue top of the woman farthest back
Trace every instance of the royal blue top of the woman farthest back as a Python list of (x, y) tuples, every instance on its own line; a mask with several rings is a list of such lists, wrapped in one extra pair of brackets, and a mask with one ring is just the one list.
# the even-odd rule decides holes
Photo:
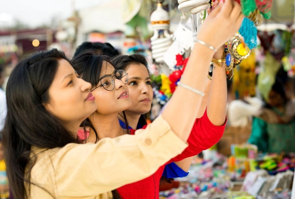
[[(123, 129), (126, 129), (126, 124), (122, 120), (119, 119), (120, 126)], [(130, 126), (128, 126), (129, 129), (132, 129)], [(137, 124), (137, 129), (141, 129), (142, 126), (140, 124)], [(169, 163), (165, 166), (162, 176), (166, 178), (182, 178), (188, 175), (188, 172), (185, 172), (180, 167), (177, 166), (174, 162)]]

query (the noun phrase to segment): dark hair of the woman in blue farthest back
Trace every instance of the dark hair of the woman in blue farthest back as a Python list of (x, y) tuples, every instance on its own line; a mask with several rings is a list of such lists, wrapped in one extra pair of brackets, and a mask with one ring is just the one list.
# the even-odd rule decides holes
[[(143, 64), (147, 68), (148, 75), (151, 77), (151, 73), (147, 65), (147, 58), (141, 54), (117, 55), (112, 58), (112, 62), (115, 69), (117, 70), (126, 70), (127, 66), (129, 66), (130, 64)], [(140, 124), (140, 126), (147, 125), (146, 114), (140, 115), (138, 123)]]

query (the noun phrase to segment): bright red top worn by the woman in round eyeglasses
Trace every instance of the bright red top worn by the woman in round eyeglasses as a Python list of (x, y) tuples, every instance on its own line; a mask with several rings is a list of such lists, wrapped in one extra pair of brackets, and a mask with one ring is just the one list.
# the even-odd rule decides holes
[[(188, 138), (188, 147), (178, 156), (171, 159), (168, 163), (177, 162), (184, 158), (195, 156), (215, 145), (223, 135), (226, 121), (223, 126), (213, 125), (205, 111), (202, 118), (197, 118)], [(146, 126), (144, 126), (145, 128)], [(130, 129), (131, 134), (135, 130)], [(165, 165), (166, 165), (165, 164)], [(164, 171), (165, 165), (161, 166), (150, 177), (147, 177), (138, 182), (124, 185), (117, 189), (122, 199), (157, 199), (159, 198), (160, 178)]]

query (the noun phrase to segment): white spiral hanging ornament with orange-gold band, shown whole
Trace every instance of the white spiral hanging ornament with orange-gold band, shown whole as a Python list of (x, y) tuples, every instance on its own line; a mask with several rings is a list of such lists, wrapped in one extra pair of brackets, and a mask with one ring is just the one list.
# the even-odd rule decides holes
[(151, 14), (151, 27), (154, 35), (151, 37), (152, 58), (156, 62), (163, 62), (163, 56), (172, 43), (172, 38), (168, 33), (170, 19), (168, 12), (162, 8), (158, 2), (157, 9)]

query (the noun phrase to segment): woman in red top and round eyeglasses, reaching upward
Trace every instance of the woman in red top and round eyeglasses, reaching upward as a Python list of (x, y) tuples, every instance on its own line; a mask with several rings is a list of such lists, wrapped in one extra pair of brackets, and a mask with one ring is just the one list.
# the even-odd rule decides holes
[[(231, 21), (231, 25), (227, 27), (227, 29), (223, 30), (222, 34), (228, 34), (228, 31), (233, 29), (238, 30), (239, 25), (241, 24), (240, 20), (236, 20), (237, 18), (240, 18), (240, 7), (237, 3), (232, 2), (231, 0), (227, 0), (224, 3), (223, 8), (222, 6), (219, 6), (216, 11), (213, 11), (209, 17), (207, 17), (206, 21), (210, 21), (207, 23), (216, 23), (219, 21), (219, 23), (228, 23)], [(226, 10), (226, 11), (225, 11)], [(218, 16), (218, 17), (217, 17)], [(226, 17), (225, 17), (226, 16)], [(212, 20), (211, 18), (214, 18)], [(232, 18), (232, 19), (231, 19)], [(216, 21), (217, 20), (217, 21)], [(206, 23), (205, 21), (205, 23)], [(235, 30), (235, 31), (236, 31)], [(235, 32), (233, 31), (233, 32)], [(199, 36), (208, 37), (208, 34), (202, 34), (202, 31), (199, 32)], [(205, 36), (206, 35), (206, 36)], [(228, 39), (231, 37), (232, 34), (228, 35)], [(219, 40), (219, 36), (210, 36), (212, 40)], [(226, 40), (225, 40), (226, 41)], [(223, 42), (224, 43), (224, 42)], [(220, 50), (217, 51), (217, 53), (214, 54), (213, 58), (220, 59), (224, 58), (223, 49), (224, 46), (220, 43)], [(193, 49), (191, 53), (190, 60), (188, 61), (186, 73), (193, 72), (191, 68), (195, 63), (200, 64), (200, 60), (202, 56), (198, 53), (198, 45), (199, 43), (195, 44), (195, 48)], [(212, 58), (212, 57), (211, 57)], [(98, 60), (98, 61), (97, 61)], [(210, 60), (209, 60), (210, 61)], [(208, 61), (208, 63), (209, 63)], [(122, 135), (126, 132), (119, 126), (117, 114), (120, 111), (126, 110), (131, 106), (131, 102), (129, 99), (129, 96), (127, 96), (128, 88), (126, 84), (128, 83), (123, 79), (123, 81), (115, 81), (116, 84), (114, 90), (108, 90), (105, 88), (103, 83), (100, 81), (101, 78), (104, 78), (106, 75), (107, 77), (113, 76), (113, 77), (119, 77), (122, 78), (124, 76), (120, 74), (116, 74), (116, 71), (114, 67), (110, 64), (111, 62), (104, 57), (103, 55), (95, 55), (95, 52), (89, 53), (84, 52), (79, 54), (78, 56), (74, 57), (73, 60), (73, 66), (77, 70), (78, 74), (86, 81), (89, 81), (92, 84), (92, 93), (94, 96), (96, 96), (96, 99), (98, 99), (98, 109), (95, 114), (93, 114), (92, 117), (90, 117), (90, 121), (92, 123), (92, 127), (90, 128), (90, 134), (88, 137), (89, 142), (95, 142), (97, 140), (97, 136), (95, 136), (95, 132), (97, 132), (98, 139), (102, 137), (116, 137), (119, 135)], [(202, 64), (205, 65), (207, 62), (203, 62)], [(93, 68), (96, 68), (96, 70)], [(190, 72), (187, 72), (189, 71)], [(183, 168), (183, 170), (188, 170), (190, 166), (190, 161), (185, 161), (185, 158), (189, 158), (191, 156), (197, 155), (202, 150), (205, 150), (215, 143), (219, 141), (220, 137), (223, 134), (224, 131), (224, 125), (225, 125), (225, 105), (226, 105), (226, 74), (224, 65), (215, 66), (214, 65), (214, 72), (212, 79), (212, 85), (211, 90), (209, 94), (209, 100), (207, 109), (204, 112), (203, 116), (201, 118), (197, 118), (195, 120), (195, 124), (193, 125), (193, 128), (191, 130), (191, 135), (188, 139), (188, 148), (184, 150), (183, 153), (181, 153), (179, 156), (173, 158), (170, 160), (170, 162), (179, 162), (178, 166)], [(198, 72), (195, 72), (196, 76)], [(199, 81), (202, 81), (203, 77), (198, 77)], [(206, 78), (205, 78), (206, 79)], [(203, 80), (205, 80), (203, 79)], [(196, 81), (196, 84), (198, 82)], [(118, 83), (117, 83), (118, 82)], [(114, 88), (114, 87), (113, 87)], [(113, 89), (112, 88), (112, 89)], [(116, 95), (116, 93), (121, 93), (120, 95)], [(189, 97), (189, 96), (186, 96)], [(121, 100), (121, 103), (113, 103), (114, 99)], [(181, 100), (180, 102), (181, 103)], [(169, 106), (169, 103), (168, 105)], [(181, 117), (180, 115), (173, 115), (171, 113), (170, 117)], [(195, 115), (197, 117), (197, 115)], [(183, 124), (186, 125), (186, 124)], [(188, 128), (191, 128), (190, 126), (187, 126)], [(131, 134), (133, 131), (131, 131)], [(183, 161), (184, 160), (184, 161)], [(144, 167), (145, 165), (143, 165)], [(159, 179), (162, 176), (162, 172), (164, 169), (163, 165), (158, 169), (158, 171), (151, 175), (150, 177), (141, 180), (136, 183), (132, 183), (129, 185), (125, 185), (118, 190), (120, 193), (120, 196), (122, 198), (158, 198), (158, 187), (159, 187)]]

